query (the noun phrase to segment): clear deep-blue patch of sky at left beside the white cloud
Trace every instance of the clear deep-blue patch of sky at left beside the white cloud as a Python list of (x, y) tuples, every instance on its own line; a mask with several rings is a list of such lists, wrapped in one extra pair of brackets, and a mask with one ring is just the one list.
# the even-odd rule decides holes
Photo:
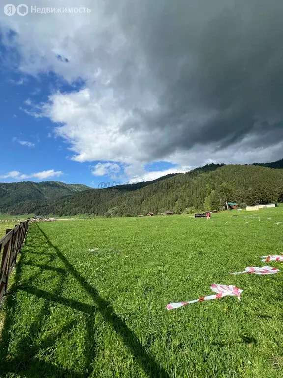
[[(74, 88), (60, 82), (53, 75), (40, 75), (35, 79), (7, 69), (5, 75), (1, 76), (0, 88), (0, 175), (6, 175), (10, 171), (32, 175), (54, 170), (62, 174), (58, 179), (52, 176), (47, 179), (91, 185), (93, 177), (89, 164), (77, 163), (68, 158), (71, 155), (68, 145), (54, 135), (54, 124), (46, 117), (35, 118), (25, 112), (25, 102), (28, 99), (39, 104), (57, 89), (65, 92)], [(40, 181), (30, 178), (34, 179)], [(15, 180), (7, 178), (5, 181)]]

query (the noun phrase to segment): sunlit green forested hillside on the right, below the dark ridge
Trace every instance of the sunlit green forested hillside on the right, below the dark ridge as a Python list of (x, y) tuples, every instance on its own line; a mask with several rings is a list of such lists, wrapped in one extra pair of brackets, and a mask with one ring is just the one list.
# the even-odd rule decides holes
[(283, 170), (226, 165), (209, 173), (189, 172), (89, 210), (107, 216), (166, 210), (194, 212), (219, 209), (226, 200), (247, 205), (283, 201)]

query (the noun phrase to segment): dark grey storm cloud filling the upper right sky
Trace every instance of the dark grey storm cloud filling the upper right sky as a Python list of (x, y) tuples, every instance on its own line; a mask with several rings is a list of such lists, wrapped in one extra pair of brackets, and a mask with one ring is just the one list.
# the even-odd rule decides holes
[(283, 140), (282, 0), (124, 1), (112, 11), (129, 43), (117, 91), (139, 80), (157, 98), (124, 125), (152, 133), (152, 158), (247, 136), (251, 147)]

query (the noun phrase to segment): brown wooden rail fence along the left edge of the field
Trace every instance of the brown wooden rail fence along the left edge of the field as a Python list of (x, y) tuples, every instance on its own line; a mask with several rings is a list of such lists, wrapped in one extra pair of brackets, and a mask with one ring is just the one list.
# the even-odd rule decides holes
[(17, 256), (21, 252), (29, 221), (21, 222), (13, 229), (6, 231), (0, 239), (0, 302), (7, 291), (8, 278), (16, 264)]

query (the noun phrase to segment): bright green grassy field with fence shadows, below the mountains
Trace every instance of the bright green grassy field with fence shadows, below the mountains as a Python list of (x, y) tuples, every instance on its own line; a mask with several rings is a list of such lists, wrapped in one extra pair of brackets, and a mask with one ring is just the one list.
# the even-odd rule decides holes
[[(31, 225), (2, 311), (0, 377), (282, 378), (283, 269), (228, 274), (283, 252), (276, 222), (283, 208)], [(240, 287), (241, 302), (166, 310), (212, 283)]]

